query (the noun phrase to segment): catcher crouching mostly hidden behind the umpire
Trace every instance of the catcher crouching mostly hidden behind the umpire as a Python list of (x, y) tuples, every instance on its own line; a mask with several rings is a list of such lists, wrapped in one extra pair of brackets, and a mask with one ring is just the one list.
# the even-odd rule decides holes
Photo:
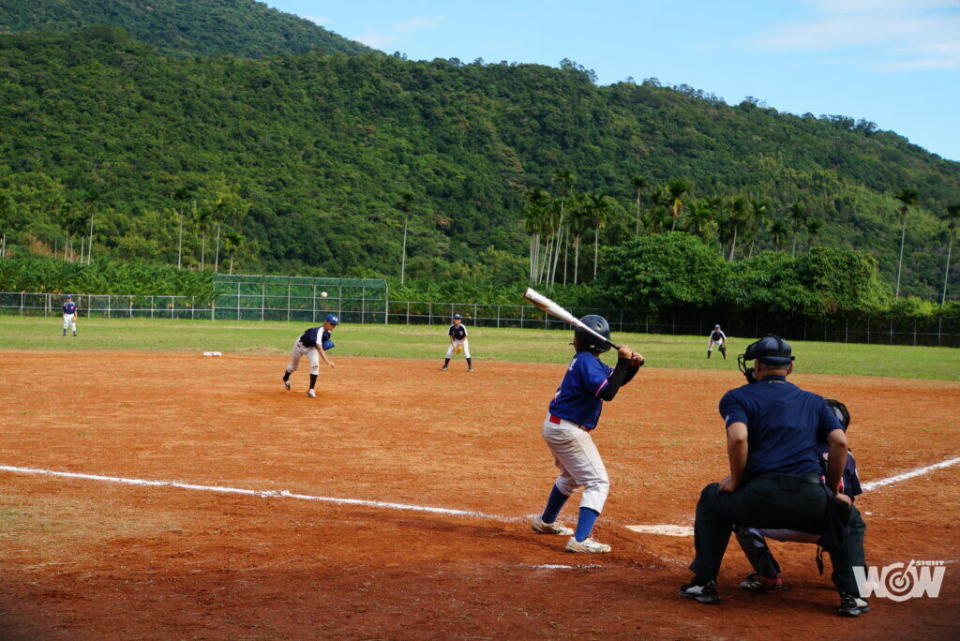
[[(832, 398), (824, 399), (824, 401), (827, 406), (833, 410), (833, 413), (836, 414), (837, 420), (840, 421), (840, 427), (846, 432), (850, 426), (850, 412), (847, 410), (847, 406)], [(829, 458), (830, 448), (825, 443), (819, 443), (815, 450), (817, 458), (820, 460), (820, 478), (825, 481), (828, 472), (827, 460)], [(849, 496), (851, 502), (853, 502), (857, 496), (863, 494), (863, 489), (860, 487), (860, 476), (857, 473), (857, 463), (854, 461), (853, 454), (851, 453), (847, 455), (847, 464), (843, 470), (839, 490)], [(853, 557), (850, 563), (851, 566), (866, 567), (866, 561), (863, 555), (863, 538), (866, 527), (860, 513), (852, 512), (848, 523), (850, 534), (847, 539), (848, 555)], [(797, 543), (820, 542), (819, 534), (808, 534), (807, 532), (800, 532), (798, 530), (737, 526), (734, 528), (734, 532), (737, 535), (737, 542), (743, 549), (743, 553), (746, 555), (747, 560), (750, 561), (750, 565), (753, 566), (753, 572), (740, 583), (740, 587), (749, 592), (773, 592), (783, 588), (780, 564), (777, 563), (777, 560), (773, 557), (773, 553), (767, 545), (767, 539)], [(823, 561), (818, 554), (817, 565), (820, 567), (821, 572), (823, 570), (822, 564)], [(838, 583), (839, 581), (840, 577), (837, 576), (836, 568), (834, 568), (833, 582)], [(860, 604), (861, 611), (866, 612), (866, 610), (869, 609), (869, 605), (863, 599), (860, 599), (860, 601), (863, 601), (863, 603)]]

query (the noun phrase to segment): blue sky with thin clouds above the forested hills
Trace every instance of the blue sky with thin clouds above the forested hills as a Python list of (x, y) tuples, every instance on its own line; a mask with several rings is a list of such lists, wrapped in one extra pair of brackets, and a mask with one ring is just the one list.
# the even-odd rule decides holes
[(569, 58), (730, 104), (842, 114), (960, 161), (960, 0), (266, 0), (412, 60)]

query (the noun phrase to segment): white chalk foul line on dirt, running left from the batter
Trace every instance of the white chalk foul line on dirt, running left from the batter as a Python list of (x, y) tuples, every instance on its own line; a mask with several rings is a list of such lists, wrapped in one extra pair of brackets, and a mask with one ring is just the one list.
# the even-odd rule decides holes
[(483, 512), (471, 512), (469, 510), (454, 510), (445, 507), (427, 507), (423, 505), (408, 505), (406, 503), (388, 503), (384, 501), (366, 501), (363, 499), (344, 499), (332, 496), (311, 496), (309, 494), (294, 494), (287, 490), (246, 490), (236, 487), (220, 487), (217, 485), (196, 485), (194, 483), (181, 483), (180, 481), (149, 481), (145, 479), (129, 479), (119, 476), (102, 476), (100, 474), (80, 474), (78, 472), (58, 472), (56, 470), (42, 470), (34, 467), (15, 467), (12, 465), (0, 465), (0, 471), (13, 472), (15, 474), (35, 474), (41, 476), (57, 476), (62, 478), (79, 479), (82, 481), (100, 481), (102, 483), (120, 483), (122, 485), (140, 485), (149, 487), (175, 487), (181, 490), (194, 490), (197, 492), (219, 492), (221, 494), (241, 494), (244, 496), (258, 496), (261, 498), (284, 498), (297, 499), (300, 501), (320, 501), (323, 503), (335, 503), (338, 505), (361, 505), (363, 507), (378, 507), (389, 510), (409, 510), (413, 512), (430, 512), (433, 514), (446, 514), (449, 516), (466, 516), (476, 519), (488, 519), (494, 521), (516, 521), (518, 519), (496, 516), (494, 514), (484, 514)]

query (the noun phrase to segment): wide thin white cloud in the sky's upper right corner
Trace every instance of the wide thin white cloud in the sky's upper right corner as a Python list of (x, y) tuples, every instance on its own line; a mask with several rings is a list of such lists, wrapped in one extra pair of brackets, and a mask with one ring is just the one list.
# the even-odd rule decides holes
[(885, 71), (960, 69), (960, 0), (810, 0), (814, 17), (757, 40), (778, 51), (868, 50)]

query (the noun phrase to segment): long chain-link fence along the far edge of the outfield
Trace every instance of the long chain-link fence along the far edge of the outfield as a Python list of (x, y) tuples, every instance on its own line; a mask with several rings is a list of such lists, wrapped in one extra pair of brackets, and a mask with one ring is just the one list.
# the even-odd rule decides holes
[[(338, 279), (330, 279), (338, 280)], [(327, 294), (323, 296), (324, 292)], [(57, 316), (62, 294), (0, 292), (0, 313)], [(274, 320), (317, 323), (328, 313), (345, 323), (446, 325), (454, 313), (472, 327), (568, 329), (566, 323), (531, 305), (484, 305), (391, 301), (386, 287), (364, 281), (349, 283), (268, 283), (236, 281), (223, 286), (213, 302), (189, 296), (74, 295), (81, 317), (170, 318), (208, 320)], [(714, 323), (728, 334), (763, 336), (775, 333), (796, 340), (837, 343), (880, 343), (960, 347), (960, 317), (919, 319), (908, 316), (787, 317), (744, 314), (733, 318), (719, 311), (673, 310), (637, 315), (622, 309), (575, 308), (576, 316), (600, 314), (614, 332), (706, 336)]]

